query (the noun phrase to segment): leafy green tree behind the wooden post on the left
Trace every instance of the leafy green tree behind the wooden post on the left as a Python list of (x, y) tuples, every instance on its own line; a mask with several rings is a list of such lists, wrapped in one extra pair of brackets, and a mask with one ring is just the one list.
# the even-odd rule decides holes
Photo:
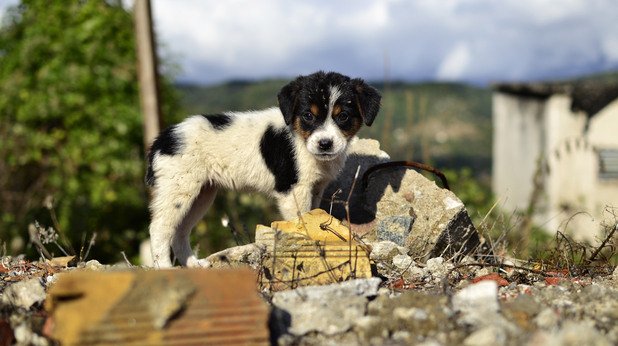
[[(77, 251), (97, 232), (97, 259), (136, 252), (148, 223), (136, 74), (133, 19), (120, 1), (23, 0), (8, 11), (0, 29), (2, 241), (27, 239), (34, 220), (52, 225), (43, 205), (51, 196), (57, 228)], [(174, 94), (161, 85), (169, 114)]]

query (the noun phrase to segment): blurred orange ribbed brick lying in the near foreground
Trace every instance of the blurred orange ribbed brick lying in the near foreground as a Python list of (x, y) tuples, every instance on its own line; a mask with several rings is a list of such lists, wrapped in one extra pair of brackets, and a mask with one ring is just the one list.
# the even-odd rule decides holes
[(46, 309), (63, 345), (268, 344), (268, 308), (249, 269), (74, 271)]

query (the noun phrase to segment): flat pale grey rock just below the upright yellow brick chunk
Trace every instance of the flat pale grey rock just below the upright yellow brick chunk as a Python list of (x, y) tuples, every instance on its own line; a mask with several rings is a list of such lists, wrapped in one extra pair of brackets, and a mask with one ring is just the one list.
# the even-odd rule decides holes
[[(335, 335), (350, 329), (367, 308), (367, 297), (378, 292), (378, 278), (357, 279), (324, 286), (306, 286), (276, 292), (272, 303), (280, 326), (278, 335), (309, 332)], [(283, 328), (281, 328), (283, 326)]]

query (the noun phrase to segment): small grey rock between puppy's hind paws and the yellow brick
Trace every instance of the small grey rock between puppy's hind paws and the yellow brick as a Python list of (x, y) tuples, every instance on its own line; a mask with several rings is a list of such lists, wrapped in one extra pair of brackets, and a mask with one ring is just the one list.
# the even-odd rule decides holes
[(207, 268), (237, 268), (249, 266), (260, 269), (266, 255), (266, 246), (263, 244), (247, 244), (234, 246), (205, 258)]

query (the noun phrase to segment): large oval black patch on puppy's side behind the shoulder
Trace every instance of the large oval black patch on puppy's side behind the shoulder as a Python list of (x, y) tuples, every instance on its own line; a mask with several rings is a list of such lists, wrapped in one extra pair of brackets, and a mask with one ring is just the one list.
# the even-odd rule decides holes
[(260, 141), (260, 152), (266, 167), (275, 176), (275, 190), (288, 192), (298, 182), (294, 143), (287, 129), (268, 126)]

